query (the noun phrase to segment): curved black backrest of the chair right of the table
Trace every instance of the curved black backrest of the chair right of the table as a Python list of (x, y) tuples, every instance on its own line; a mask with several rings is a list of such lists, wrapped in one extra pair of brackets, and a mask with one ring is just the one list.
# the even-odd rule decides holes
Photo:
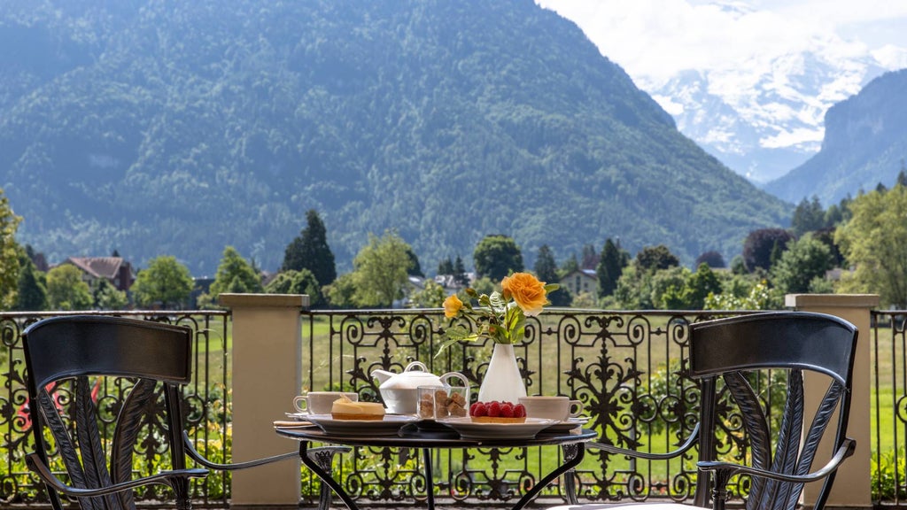
[[(758, 313), (691, 325), (688, 373), (701, 385), (699, 460), (717, 460), (719, 429), (735, 422), (727, 419), (734, 413), (749, 439), (751, 466), (786, 475), (809, 473), (826, 429), (834, 430), (834, 448), (844, 442), (856, 339), (853, 324), (811, 312)], [(781, 405), (772, 403), (782, 413), (774, 420), (766, 412), (765, 387), (771, 385), (753, 384), (755, 372), (765, 370), (785, 374), (784, 391), (772, 396), (783, 399)], [(805, 408), (804, 371), (830, 381), (821, 403), (811, 409)], [(823, 378), (811, 378), (811, 384), (814, 379)], [(727, 409), (727, 396), (736, 410)], [(723, 433), (727, 438), (727, 430)], [(820, 459), (820, 465), (827, 460)], [(825, 479), (817, 507), (824, 505), (833, 482), (834, 473)], [(708, 505), (711, 484), (700, 472), (696, 505)], [(802, 484), (754, 478), (746, 508), (793, 509), (802, 490)]]

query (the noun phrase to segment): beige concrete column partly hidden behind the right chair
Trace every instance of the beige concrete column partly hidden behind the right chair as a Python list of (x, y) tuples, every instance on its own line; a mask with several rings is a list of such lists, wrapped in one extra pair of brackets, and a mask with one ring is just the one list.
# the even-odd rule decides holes
[[(870, 427), (870, 395), (872, 393), (870, 367), (870, 338), (872, 335), (870, 310), (879, 305), (876, 294), (788, 294), (785, 305), (790, 308), (826, 313), (851, 322), (859, 330), (857, 336), (856, 357), (853, 360), (853, 397), (851, 398), (850, 420), (847, 436), (856, 440), (856, 451), (844, 461), (834, 479), (832, 494), (826, 506), (834, 507), (870, 507), (872, 481), (870, 477), (870, 455), (872, 436)], [(816, 383), (819, 376), (814, 376)], [(824, 396), (828, 379), (821, 384), (814, 384), (811, 391), (810, 378), (805, 379), (806, 405), (814, 408)], [(822, 466), (831, 455), (831, 437), (826, 434), (814, 467)], [(824, 460), (821, 460), (824, 459)], [(822, 464), (818, 464), (821, 462)], [(816, 482), (807, 484), (804, 500), (807, 505), (815, 501), (821, 485)]]

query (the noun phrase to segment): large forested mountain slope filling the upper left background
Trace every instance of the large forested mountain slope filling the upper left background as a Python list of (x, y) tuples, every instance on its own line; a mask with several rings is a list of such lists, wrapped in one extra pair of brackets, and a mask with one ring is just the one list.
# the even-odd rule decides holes
[(388, 228), (424, 268), (489, 233), (690, 263), (788, 215), (532, 0), (0, 0), (0, 45), (0, 186), (51, 261), (276, 270), (314, 208), (341, 270)]

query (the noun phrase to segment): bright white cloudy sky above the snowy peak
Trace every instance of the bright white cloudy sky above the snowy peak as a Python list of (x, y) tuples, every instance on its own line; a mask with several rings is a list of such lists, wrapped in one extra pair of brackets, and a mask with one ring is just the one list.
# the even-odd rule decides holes
[[(536, 0), (571, 19), (640, 85), (816, 52), (907, 67), (907, 0)], [(743, 65), (746, 64), (746, 65)]]

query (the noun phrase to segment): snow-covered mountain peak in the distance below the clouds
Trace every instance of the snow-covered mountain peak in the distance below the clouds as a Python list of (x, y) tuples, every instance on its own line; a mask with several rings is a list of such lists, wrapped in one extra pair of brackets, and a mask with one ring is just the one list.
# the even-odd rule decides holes
[(644, 83), (681, 132), (751, 181), (772, 181), (812, 157), (824, 114), (882, 74), (878, 65), (787, 54), (735, 70), (685, 71)]

